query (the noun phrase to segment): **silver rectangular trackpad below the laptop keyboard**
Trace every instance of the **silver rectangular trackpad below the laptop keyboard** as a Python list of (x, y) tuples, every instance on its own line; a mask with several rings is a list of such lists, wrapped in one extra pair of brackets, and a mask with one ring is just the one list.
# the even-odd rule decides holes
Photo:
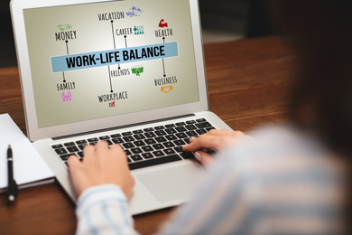
[(196, 164), (162, 169), (158, 172), (138, 174), (138, 179), (159, 202), (190, 198), (191, 189), (202, 170)]

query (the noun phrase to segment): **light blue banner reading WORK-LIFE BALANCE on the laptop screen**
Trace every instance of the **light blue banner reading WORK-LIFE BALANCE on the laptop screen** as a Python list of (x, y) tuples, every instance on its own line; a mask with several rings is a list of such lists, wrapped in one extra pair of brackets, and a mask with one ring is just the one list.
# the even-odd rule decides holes
[(76, 71), (112, 64), (149, 61), (179, 56), (177, 42), (128, 47), (123, 49), (88, 52), (51, 57), (52, 72)]

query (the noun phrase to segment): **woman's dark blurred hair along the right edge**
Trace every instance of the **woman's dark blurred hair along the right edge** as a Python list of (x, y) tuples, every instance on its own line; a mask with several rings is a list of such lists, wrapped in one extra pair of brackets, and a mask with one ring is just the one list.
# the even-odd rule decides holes
[[(350, 0), (273, 1), (275, 22), (299, 53), (292, 118), (309, 128), (352, 172), (352, 5)], [(346, 225), (351, 231), (351, 174)], [(349, 233), (351, 234), (351, 233)]]

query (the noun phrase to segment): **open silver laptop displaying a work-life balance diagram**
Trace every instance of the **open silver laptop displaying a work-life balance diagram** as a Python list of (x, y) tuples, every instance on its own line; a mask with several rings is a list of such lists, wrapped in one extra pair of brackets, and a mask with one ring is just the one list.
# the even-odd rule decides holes
[(187, 202), (212, 128), (197, 0), (12, 0), (27, 134), (69, 197), (69, 155), (120, 144), (132, 214)]

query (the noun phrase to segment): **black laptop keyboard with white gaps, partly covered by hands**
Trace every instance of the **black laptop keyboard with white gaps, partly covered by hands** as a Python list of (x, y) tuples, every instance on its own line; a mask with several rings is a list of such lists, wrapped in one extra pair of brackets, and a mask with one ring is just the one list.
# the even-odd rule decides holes
[(110, 136), (82, 139), (51, 147), (67, 164), (69, 155), (84, 158), (84, 146), (94, 146), (98, 141), (106, 141), (109, 146), (119, 144), (124, 148), (128, 157), (129, 168), (134, 170), (193, 158), (193, 154), (182, 151), (182, 146), (190, 143), (190, 137), (207, 133), (213, 128), (205, 118), (199, 118)]

